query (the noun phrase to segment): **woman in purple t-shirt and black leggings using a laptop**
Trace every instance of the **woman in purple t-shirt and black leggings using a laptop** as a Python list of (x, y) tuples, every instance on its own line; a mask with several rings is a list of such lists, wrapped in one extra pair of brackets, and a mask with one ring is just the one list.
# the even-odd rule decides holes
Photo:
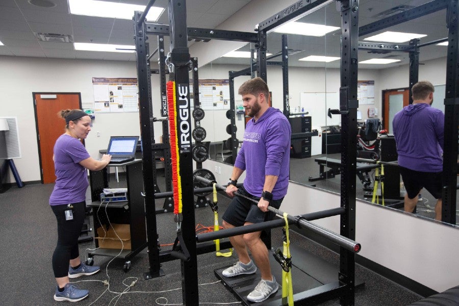
[(54, 165), (56, 185), (49, 198), (49, 204), (56, 215), (58, 243), (53, 253), (53, 270), (58, 284), (56, 301), (79, 301), (89, 295), (89, 290), (81, 290), (69, 283), (69, 277), (79, 277), (97, 273), (100, 267), (86, 266), (80, 260), (78, 237), (85, 218), (86, 189), (88, 174), (86, 169), (101, 170), (111, 160), (104, 155), (102, 160), (91, 158), (81, 143), (91, 131), (91, 118), (82, 110), (64, 110), (58, 114), (65, 119), (65, 133), (54, 145)]

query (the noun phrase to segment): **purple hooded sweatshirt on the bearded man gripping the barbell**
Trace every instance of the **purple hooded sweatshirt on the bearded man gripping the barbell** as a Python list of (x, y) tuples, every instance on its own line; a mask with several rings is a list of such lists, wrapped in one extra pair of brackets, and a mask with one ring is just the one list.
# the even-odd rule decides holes
[(290, 137), (290, 123), (278, 109), (269, 108), (257, 122), (253, 118), (247, 122), (244, 142), (234, 165), (246, 171), (244, 189), (248, 193), (261, 196), (265, 175), (275, 175), (273, 199), (287, 194)]

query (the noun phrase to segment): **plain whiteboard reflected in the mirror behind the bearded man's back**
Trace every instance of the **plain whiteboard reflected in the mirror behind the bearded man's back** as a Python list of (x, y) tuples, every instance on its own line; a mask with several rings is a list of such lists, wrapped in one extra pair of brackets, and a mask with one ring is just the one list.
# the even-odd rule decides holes
[(340, 109), (340, 95), (338, 92), (302, 92), (300, 93), (300, 107), (311, 116), (312, 126), (340, 125), (341, 115), (327, 116), (328, 109)]

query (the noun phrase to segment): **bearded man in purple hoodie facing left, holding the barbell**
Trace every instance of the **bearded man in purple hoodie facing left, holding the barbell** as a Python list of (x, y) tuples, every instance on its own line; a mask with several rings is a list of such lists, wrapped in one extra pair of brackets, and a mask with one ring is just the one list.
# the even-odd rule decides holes
[[(258, 206), (241, 197), (234, 197), (223, 215), (223, 227), (232, 228), (268, 221), (274, 214), (268, 205), (278, 209), (289, 184), (290, 137), (288, 119), (278, 109), (269, 107), (269, 89), (261, 78), (244, 82), (239, 88), (243, 106), (250, 117), (244, 133), (244, 142), (234, 164), (230, 182), (226, 188), (228, 196), (241, 193), (258, 201)], [(239, 176), (246, 171), (244, 186), (237, 188)], [(226, 277), (252, 274), (261, 271), (261, 281), (250, 292), (247, 299), (261, 302), (275, 293), (279, 286), (271, 273), (268, 250), (261, 240), (262, 232), (230, 237), (239, 261), (225, 269)], [(253, 261), (250, 259), (247, 247)]]

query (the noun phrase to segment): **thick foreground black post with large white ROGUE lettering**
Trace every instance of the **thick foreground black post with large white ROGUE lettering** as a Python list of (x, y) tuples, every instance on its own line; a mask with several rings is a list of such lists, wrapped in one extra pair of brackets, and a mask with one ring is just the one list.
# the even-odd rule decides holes
[(186, 305), (199, 303), (197, 284), (197, 256), (193, 193), (193, 160), (191, 154), (191, 107), (190, 79), (191, 64), (188, 50), (186, 0), (169, 1), (170, 63), (174, 68), (176, 87), (176, 129), (179, 146), (180, 175), (182, 177), (182, 235), (190, 253), (189, 261), (182, 263), (182, 296)]

